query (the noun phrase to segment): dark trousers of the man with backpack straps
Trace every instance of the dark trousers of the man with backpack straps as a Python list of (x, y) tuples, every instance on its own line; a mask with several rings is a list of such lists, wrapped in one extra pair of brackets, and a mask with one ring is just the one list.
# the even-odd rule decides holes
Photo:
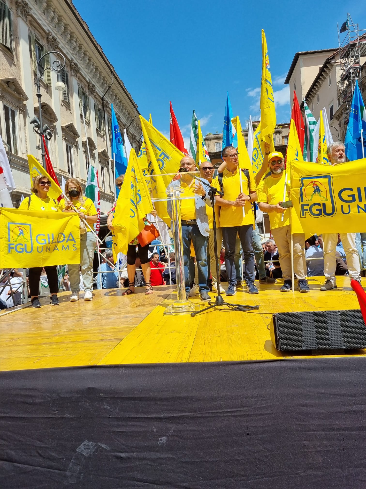
[(253, 251), (253, 225), (221, 227), (223, 231), (223, 240), (225, 246), (225, 266), (226, 275), (229, 285), (236, 285), (235, 271), (235, 242), (236, 236), (239, 235), (240, 242), (243, 246), (244, 253), (244, 278), (246, 284), (254, 283), (254, 251)]

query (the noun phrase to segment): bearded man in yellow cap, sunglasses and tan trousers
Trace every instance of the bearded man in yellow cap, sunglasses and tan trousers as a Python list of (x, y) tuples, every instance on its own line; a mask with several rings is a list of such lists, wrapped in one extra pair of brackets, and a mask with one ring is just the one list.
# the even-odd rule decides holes
[[(258, 185), (258, 204), (263, 212), (268, 213), (271, 224), (271, 233), (276, 242), (279, 254), (284, 285), (281, 292), (288, 292), (292, 288), (291, 274), (291, 228), (290, 209), (281, 206), (285, 191), (285, 162), (280, 152), (273, 152), (268, 156), (268, 167), (271, 175), (264, 178)], [(285, 199), (287, 200), (287, 199)], [(284, 219), (282, 220), (282, 215)], [(299, 280), (300, 292), (309, 292), (306, 282), (305, 235), (293, 234), (294, 271)]]

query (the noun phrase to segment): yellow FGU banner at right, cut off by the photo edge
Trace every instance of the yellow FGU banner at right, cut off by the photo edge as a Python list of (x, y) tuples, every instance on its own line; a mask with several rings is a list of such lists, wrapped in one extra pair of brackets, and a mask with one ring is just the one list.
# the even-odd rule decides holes
[(358, 233), (366, 222), (366, 158), (324, 166), (291, 161), (291, 232)]

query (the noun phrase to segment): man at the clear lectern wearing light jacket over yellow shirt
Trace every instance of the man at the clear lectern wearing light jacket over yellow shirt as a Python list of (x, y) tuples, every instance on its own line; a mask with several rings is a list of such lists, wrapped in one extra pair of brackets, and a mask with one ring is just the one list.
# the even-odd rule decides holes
[[(201, 293), (201, 300), (209, 301), (209, 287), (207, 285), (207, 238), (209, 232), (208, 217), (206, 205), (211, 206), (211, 200), (208, 195), (208, 181), (200, 178), (201, 181), (194, 178), (193, 174), (186, 175), (185, 172), (197, 171), (196, 163), (193, 158), (184, 156), (180, 163), (180, 173), (169, 184), (174, 185), (174, 181), (181, 180), (181, 222), (182, 222), (182, 241), (183, 241), (183, 259), (184, 259), (184, 281), (185, 295), (188, 299), (190, 283), (188, 262), (190, 258), (190, 247), (193, 243), (196, 262), (198, 267), (198, 285)], [(171, 200), (167, 202), (168, 214), (171, 217)]]

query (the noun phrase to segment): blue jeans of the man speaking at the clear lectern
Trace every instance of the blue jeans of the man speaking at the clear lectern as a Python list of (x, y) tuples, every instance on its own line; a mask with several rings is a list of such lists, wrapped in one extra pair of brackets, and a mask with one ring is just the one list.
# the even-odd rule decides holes
[(200, 292), (205, 290), (208, 292), (210, 288), (207, 285), (207, 236), (203, 236), (197, 224), (182, 224), (183, 238), (183, 259), (184, 259), (184, 281), (185, 291), (189, 292), (189, 258), (191, 256), (191, 242), (193, 243), (194, 252), (196, 254), (196, 262), (198, 267), (198, 286)]

